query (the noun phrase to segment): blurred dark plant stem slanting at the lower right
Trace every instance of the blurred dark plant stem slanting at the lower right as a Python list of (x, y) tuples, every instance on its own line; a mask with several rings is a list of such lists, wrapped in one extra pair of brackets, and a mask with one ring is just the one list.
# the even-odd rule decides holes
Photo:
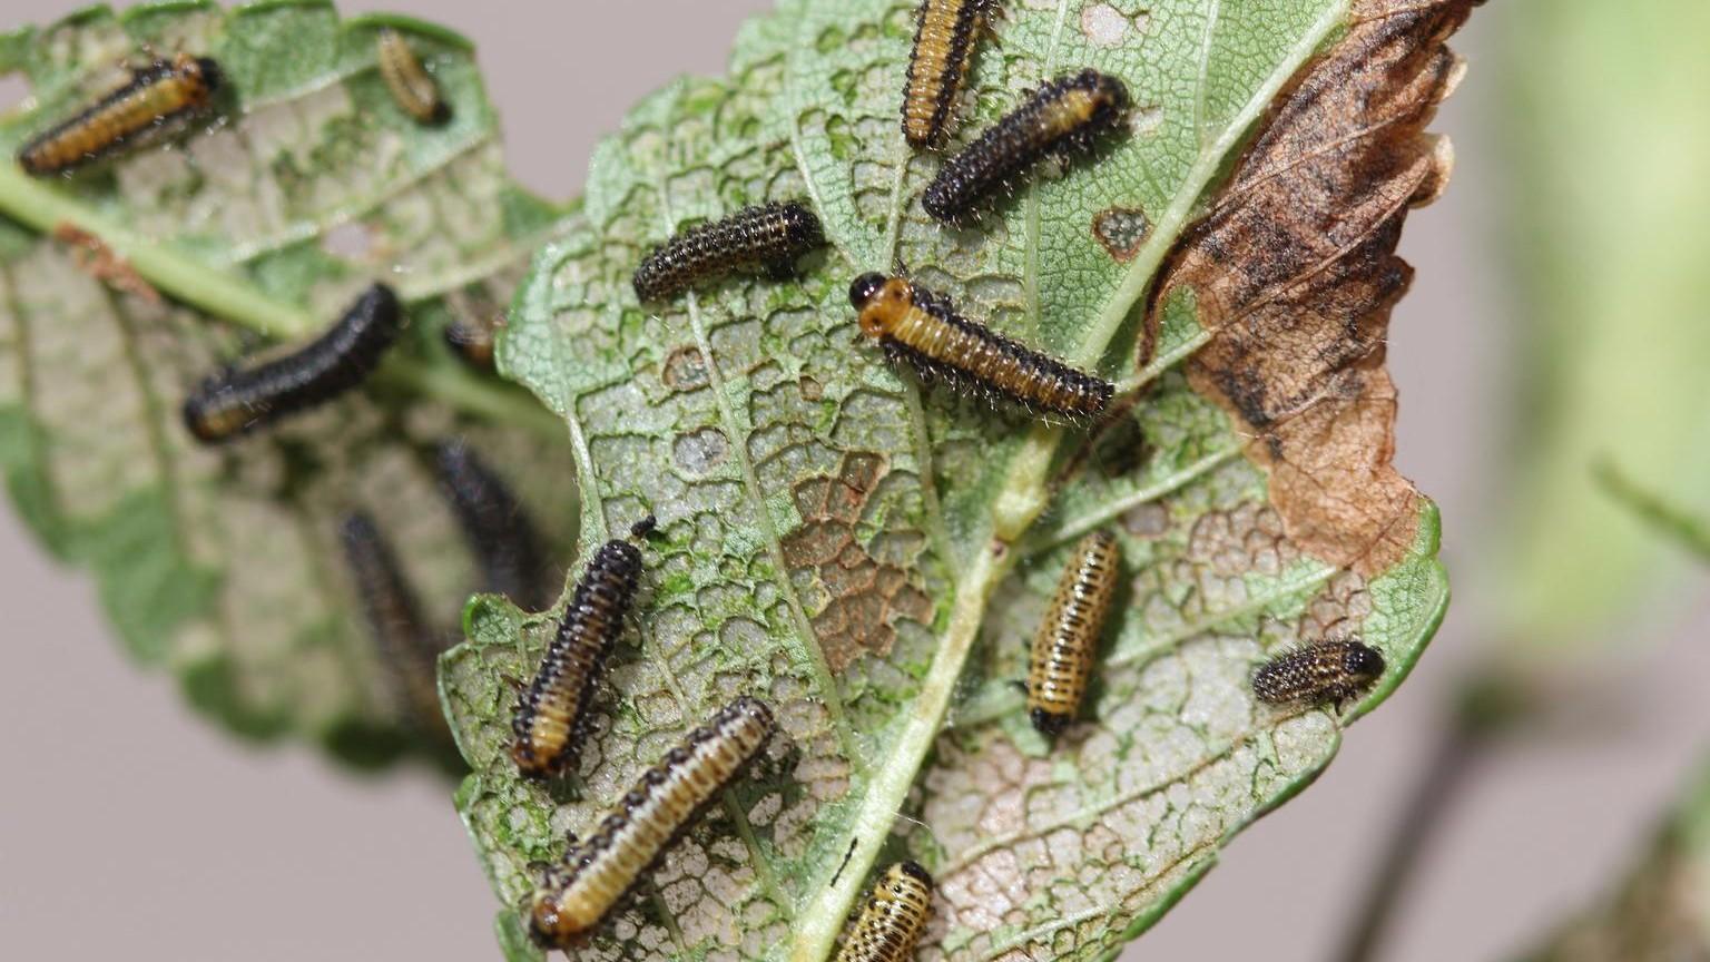
[(1378, 957), (1395, 906), (1419, 866), (1419, 856), (1431, 849), (1460, 789), (1467, 786), (1467, 774), (1489, 745), (1489, 729), (1469, 721), (1465, 712), (1455, 712), (1454, 721), (1438, 734), (1412, 798), (1390, 828), (1383, 856), (1365, 890), (1365, 902), (1354, 914), (1354, 928), (1334, 955), (1337, 962), (1373, 962)]

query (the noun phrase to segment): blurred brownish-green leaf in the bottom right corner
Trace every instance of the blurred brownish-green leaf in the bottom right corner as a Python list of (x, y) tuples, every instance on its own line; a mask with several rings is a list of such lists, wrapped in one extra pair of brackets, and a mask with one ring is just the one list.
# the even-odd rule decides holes
[(1527, 962), (1678, 962), (1710, 957), (1710, 769), (1607, 900), (1561, 926)]

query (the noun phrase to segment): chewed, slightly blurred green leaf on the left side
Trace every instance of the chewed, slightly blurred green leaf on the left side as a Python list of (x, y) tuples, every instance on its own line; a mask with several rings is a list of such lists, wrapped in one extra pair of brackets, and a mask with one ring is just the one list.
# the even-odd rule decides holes
[[(445, 127), (388, 99), (374, 70), (385, 24), (434, 72), (453, 104)], [(229, 92), (212, 128), (70, 178), (10, 163), (121, 82), (116, 63), (144, 45), (221, 63)], [(506, 176), (469, 43), (414, 21), (340, 22), (330, 3), (92, 7), (0, 38), (0, 72), (34, 94), (0, 122), (0, 471), (14, 503), (91, 570), (130, 656), (176, 673), (197, 707), (359, 763), (397, 755), (407, 739), (344, 567), (342, 515), (380, 519), (446, 628), (479, 582), (431, 443), (469, 435), (549, 532), (575, 531), (563, 428), (439, 344), (450, 318), (510, 301), (527, 252), (564, 217)], [(79, 236), (101, 246), (67, 240)], [(180, 404), (197, 382), (263, 337), (313, 336), (374, 277), (407, 300), (410, 327), (369, 390), (226, 448), (190, 440)]]

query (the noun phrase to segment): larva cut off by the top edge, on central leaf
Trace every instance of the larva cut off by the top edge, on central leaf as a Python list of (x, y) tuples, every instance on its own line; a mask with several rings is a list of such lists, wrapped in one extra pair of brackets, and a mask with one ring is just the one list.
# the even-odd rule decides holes
[(915, 149), (944, 140), (956, 116), (973, 45), (995, 0), (922, 0), (903, 84), (903, 137)]

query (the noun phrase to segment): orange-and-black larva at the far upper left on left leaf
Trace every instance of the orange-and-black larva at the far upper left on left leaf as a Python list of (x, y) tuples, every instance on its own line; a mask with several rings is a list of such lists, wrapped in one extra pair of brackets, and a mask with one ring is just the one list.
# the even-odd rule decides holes
[(132, 70), (130, 80), (70, 120), (31, 139), (17, 152), (24, 173), (72, 171), (125, 147), (139, 147), (209, 113), (222, 82), (207, 56), (180, 53)]

